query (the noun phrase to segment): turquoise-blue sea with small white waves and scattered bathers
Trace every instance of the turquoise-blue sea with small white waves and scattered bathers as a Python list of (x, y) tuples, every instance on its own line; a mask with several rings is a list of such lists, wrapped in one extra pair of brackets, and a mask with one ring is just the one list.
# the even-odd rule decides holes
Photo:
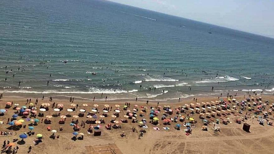
[(272, 38), (102, 0), (2, 0), (0, 14), (0, 92), (168, 100), (274, 91)]

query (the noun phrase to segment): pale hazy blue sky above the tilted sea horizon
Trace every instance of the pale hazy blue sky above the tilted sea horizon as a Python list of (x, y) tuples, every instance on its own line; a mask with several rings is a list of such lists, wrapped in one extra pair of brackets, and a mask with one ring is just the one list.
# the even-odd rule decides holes
[(109, 0), (274, 38), (274, 0)]

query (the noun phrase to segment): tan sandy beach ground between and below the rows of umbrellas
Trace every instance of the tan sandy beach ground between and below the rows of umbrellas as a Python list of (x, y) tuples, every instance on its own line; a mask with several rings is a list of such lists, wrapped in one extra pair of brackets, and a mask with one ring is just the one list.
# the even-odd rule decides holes
[[(255, 97), (255, 96), (253, 96)], [(262, 102), (265, 102), (265, 100), (268, 100), (269, 102), (273, 102), (273, 96), (260, 96), (262, 97)], [(241, 96), (234, 97), (239, 102), (243, 100), (244, 98)], [(21, 107), (23, 105), (26, 105), (26, 99), (27, 98), (21, 98), (21, 97), (13, 97), (13, 96), (5, 96), (0, 100), (0, 107), (1, 109), (4, 109), (7, 102), (12, 102), (13, 104), (17, 103), (18, 106)], [(36, 98), (31, 98), (31, 103), (35, 102)], [(221, 98), (224, 100), (227, 100), (227, 98)], [(215, 118), (205, 118), (208, 119), (210, 124), (208, 124), (207, 128), (208, 131), (203, 131), (202, 126), (203, 122), (202, 119), (199, 119), (198, 113), (190, 114), (191, 118), (194, 118), (197, 123), (194, 124), (194, 127), (191, 127), (192, 133), (190, 135), (186, 135), (186, 132), (184, 129), (186, 127), (183, 126), (183, 122), (170, 122), (170, 125), (163, 125), (163, 120), (161, 120), (163, 112), (163, 106), (169, 105), (170, 109), (174, 110), (173, 114), (170, 115), (168, 118), (173, 118), (175, 116), (181, 116), (187, 117), (187, 114), (190, 113), (191, 110), (185, 110), (186, 113), (175, 113), (175, 108), (177, 109), (179, 105), (190, 105), (191, 103), (198, 105), (196, 103), (200, 103), (200, 106), (202, 105), (202, 102), (210, 102), (217, 100), (216, 97), (207, 97), (207, 98), (198, 98), (197, 102), (193, 101), (192, 99), (182, 99), (180, 102), (178, 100), (174, 100), (173, 102), (159, 102), (159, 105), (162, 107), (160, 108), (160, 113), (157, 114), (157, 117), (159, 118), (159, 124), (153, 125), (149, 123), (149, 114), (150, 114), (150, 107), (157, 108), (157, 102), (149, 102), (147, 105), (145, 101), (128, 101), (130, 102), (131, 106), (127, 110), (133, 110), (133, 108), (137, 108), (137, 120), (140, 121), (140, 119), (147, 119), (146, 125), (148, 128), (145, 129), (146, 133), (143, 134), (143, 137), (139, 138), (140, 130), (144, 128), (140, 128), (138, 125), (139, 123), (132, 123), (132, 119), (128, 119), (128, 123), (121, 123), (119, 122), (119, 125), (122, 126), (120, 129), (111, 129), (107, 130), (105, 126), (110, 123), (112, 118), (111, 115), (113, 115), (114, 109), (116, 109), (115, 105), (120, 105), (120, 117), (116, 118), (117, 121), (120, 121), (121, 119), (127, 119), (124, 117), (124, 115), (127, 113), (126, 110), (123, 110), (123, 106), (125, 105), (125, 101), (95, 101), (92, 102), (90, 100), (78, 100), (74, 99), (74, 102), (69, 102), (68, 99), (59, 99), (54, 98), (53, 101), (50, 102), (49, 98), (45, 98), (44, 100), (41, 100), (39, 98), (39, 102), (36, 105), (37, 106), (37, 114), (40, 113), (39, 107), (42, 103), (50, 103), (49, 111), (43, 112), (46, 115), (54, 115), (56, 112), (53, 110), (54, 108), (51, 108), (51, 105), (56, 102), (58, 104), (64, 105), (64, 110), (60, 111), (60, 115), (78, 115), (80, 113), (80, 109), (87, 110), (84, 113), (84, 117), (77, 118), (80, 122), (81, 120), (86, 121), (88, 118), (86, 118), (87, 112), (91, 112), (92, 108), (94, 107), (94, 104), (97, 104), (99, 107), (97, 109), (100, 111), (100, 113), (97, 113), (98, 119), (104, 119), (106, 121), (106, 124), (99, 124), (101, 128), (99, 129), (102, 131), (101, 136), (94, 136), (93, 133), (88, 134), (87, 129), (89, 128), (89, 124), (85, 125), (85, 128), (80, 127), (80, 130), (77, 131), (79, 133), (84, 133), (83, 140), (72, 140), (72, 137), (74, 136), (72, 133), (73, 126), (70, 126), (70, 123), (73, 119), (73, 117), (67, 117), (65, 124), (58, 124), (58, 121), (61, 119), (60, 116), (58, 117), (52, 117), (50, 118), (51, 124), (44, 124), (41, 123), (41, 119), (45, 120), (44, 117), (36, 117), (36, 119), (39, 119), (40, 122), (37, 126), (33, 126), (34, 129), (32, 130), (35, 132), (35, 135), (28, 136), (26, 139), (24, 139), (25, 143), (23, 145), (17, 144), (17, 142), (14, 142), (15, 145), (19, 147), (18, 153), (26, 153), (28, 151), (28, 147), (32, 145), (31, 153), (91, 153), (87, 149), (89, 149), (89, 146), (97, 146), (97, 145), (104, 145), (104, 144), (112, 144), (115, 143), (116, 146), (120, 149), (121, 153), (127, 154), (140, 154), (140, 153), (176, 153), (176, 154), (182, 154), (182, 153), (272, 153), (274, 148), (271, 146), (273, 143), (273, 126), (268, 125), (267, 122), (264, 122), (264, 126), (259, 124), (257, 121), (259, 115), (255, 115), (254, 111), (250, 112), (248, 110), (243, 110), (243, 113), (240, 114), (240, 110), (235, 110), (235, 114), (226, 115), (229, 118), (229, 121), (231, 123), (225, 125), (220, 122), (218, 124), (218, 127), (220, 128), (220, 131), (213, 130), (213, 123), (216, 123), (215, 119), (224, 119), (226, 121), (226, 118), (224, 115), (215, 116)], [(251, 101), (253, 102), (253, 101)], [(78, 104), (78, 108), (76, 111), (68, 112), (67, 109), (72, 108), (71, 104)], [(88, 106), (83, 106), (83, 104), (87, 104)], [(99, 115), (102, 115), (102, 110), (104, 108), (104, 105), (110, 105), (112, 106), (112, 111), (109, 111), (108, 117), (100, 118)], [(214, 104), (211, 102), (211, 104)], [(210, 105), (211, 105), (210, 104)], [(229, 105), (234, 105), (235, 103), (230, 103)], [(272, 103), (269, 103), (270, 105)], [(134, 107), (134, 105), (138, 105), (138, 107)], [(266, 106), (266, 109), (270, 107), (270, 105)], [(28, 106), (28, 105), (26, 105)], [(140, 106), (146, 106), (147, 112), (142, 113), (144, 117), (140, 117)], [(13, 107), (13, 106), (12, 106)], [(14, 138), (18, 138), (19, 141), (21, 140), (19, 138), (19, 135), (23, 132), (28, 132), (28, 124), (30, 124), (30, 121), (26, 121), (26, 117), (22, 118), (20, 116), (17, 117), (18, 119), (24, 119), (25, 121), (22, 123), (22, 125), (26, 125), (26, 128), (20, 128), (19, 130), (8, 130), (7, 128), (10, 127), (10, 125), (7, 124), (7, 119), (11, 118), (14, 112), (16, 110), (12, 110), (12, 107), (7, 109), (7, 112), (0, 117), (0, 121), (3, 121), (4, 124), (0, 125), (1, 131), (12, 131), (12, 134), (9, 135), (1, 135), (0, 138), (2, 141), (9, 140), (12, 142)], [(254, 106), (252, 106), (254, 107)], [(236, 106), (237, 109), (239, 109), (239, 106)], [(256, 107), (255, 107), (256, 108)], [(257, 109), (257, 108), (256, 108)], [(228, 111), (227, 111), (228, 112)], [(244, 117), (246, 112), (251, 113), (250, 118), (243, 119), (241, 124), (238, 124), (235, 122), (235, 119), (241, 119)], [(207, 112), (206, 112), (207, 113)], [(211, 113), (212, 114), (212, 113)], [(205, 116), (206, 114), (204, 114)], [(255, 116), (254, 119), (251, 118)], [(262, 116), (262, 113), (260, 114)], [(181, 117), (179, 116), (179, 117)], [(29, 117), (29, 116), (27, 116)], [(31, 118), (34, 119), (34, 118)], [(212, 119), (213, 121), (210, 121)], [(273, 115), (268, 115), (268, 119), (270, 121), (273, 121)], [(76, 118), (74, 118), (76, 120)], [(93, 119), (92, 119), (93, 120)], [(188, 122), (188, 119), (185, 119), (185, 122)], [(79, 123), (80, 123), (79, 122)], [(251, 125), (250, 132), (247, 133), (243, 131), (243, 123), (248, 123)], [(180, 124), (182, 125), (180, 130), (176, 130), (174, 127)], [(80, 125), (80, 124), (79, 124)], [(91, 124), (92, 126), (97, 126), (97, 124)], [(113, 125), (113, 124), (112, 124)], [(50, 126), (51, 130), (57, 130), (56, 135), (59, 135), (59, 138), (52, 139), (50, 136), (52, 135), (51, 131), (47, 131), (47, 127)], [(59, 131), (59, 127), (62, 126), (64, 130)], [(135, 132), (132, 131), (132, 127), (135, 127)], [(159, 130), (154, 130), (153, 127), (158, 127)], [(169, 130), (164, 130), (163, 127), (170, 128)], [(217, 126), (216, 126), (217, 127)], [(94, 129), (93, 129), (94, 130)], [(121, 137), (121, 133), (125, 133), (125, 137)], [(36, 134), (42, 134), (42, 142), (40, 142), (38, 145), (34, 145), (34, 140), (36, 139)], [(138, 139), (139, 138), (139, 139)], [(103, 153), (103, 152), (101, 152)]]

